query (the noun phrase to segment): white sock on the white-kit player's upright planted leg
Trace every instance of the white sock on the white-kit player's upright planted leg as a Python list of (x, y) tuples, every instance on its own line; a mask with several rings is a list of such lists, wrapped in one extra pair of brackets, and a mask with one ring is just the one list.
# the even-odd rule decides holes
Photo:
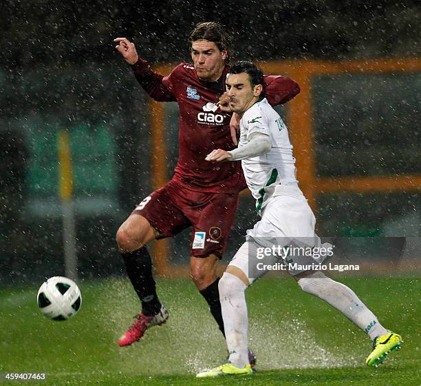
[(226, 272), (219, 280), (218, 288), (229, 361), (243, 368), (248, 364), (248, 316), (244, 293), (247, 286), (239, 277)]

